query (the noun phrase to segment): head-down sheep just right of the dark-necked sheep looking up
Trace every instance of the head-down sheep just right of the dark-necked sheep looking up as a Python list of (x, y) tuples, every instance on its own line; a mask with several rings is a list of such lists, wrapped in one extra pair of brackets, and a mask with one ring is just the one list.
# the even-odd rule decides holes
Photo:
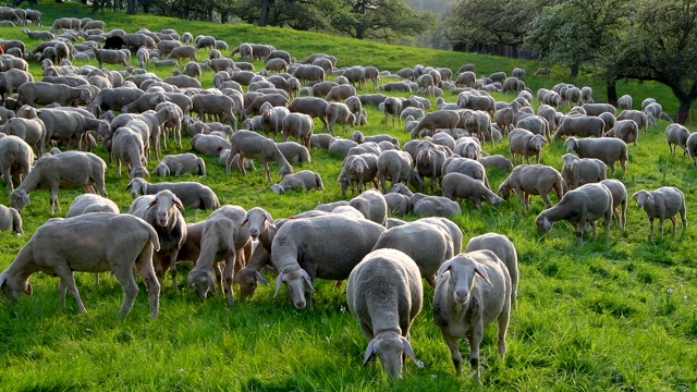
[(244, 266), (244, 249), (252, 243), (249, 228), (244, 226), (246, 215), (244, 208), (228, 205), (213, 211), (204, 223), (200, 254), (187, 277), (187, 284), (194, 286), (201, 302), (209, 290), (216, 291), (211, 269), (217, 269), (217, 264), (222, 260), (225, 268), (221, 292), (227, 293), (228, 304), (234, 304), (234, 272)]

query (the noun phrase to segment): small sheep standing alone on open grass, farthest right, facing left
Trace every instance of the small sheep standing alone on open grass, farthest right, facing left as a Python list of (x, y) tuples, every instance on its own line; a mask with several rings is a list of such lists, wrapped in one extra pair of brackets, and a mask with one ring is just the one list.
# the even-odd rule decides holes
[(638, 191), (632, 195), (636, 199), (636, 206), (644, 209), (649, 218), (649, 226), (651, 229), (651, 242), (653, 242), (653, 219), (658, 218), (658, 226), (663, 236), (663, 221), (670, 219), (673, 222), (673, 234), (676, 232), (675, 216), (680, 213), (683, 221), (683, 230), (687, 228), (687, 219), (685, 218), (685, 196), (674, 186), (661, 186), (656, 191)]

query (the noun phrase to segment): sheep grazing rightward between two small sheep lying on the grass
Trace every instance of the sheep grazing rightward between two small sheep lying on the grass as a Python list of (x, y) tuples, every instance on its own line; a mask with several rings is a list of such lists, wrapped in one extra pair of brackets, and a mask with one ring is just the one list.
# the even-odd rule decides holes
[(232, 157), (235, 154), (240, 154), (240, 170), (243, 175), (247, 175), (247, 171), (243, 167), (243, 159), (259, 159), (264, 167), (264, 177), (271, 181), (271, 174), (269, 173), (269, 161), (277, 162), (281, 169), (279, 170), (279, 176), (283, 177), (286, 174), (293, 173), (293, 167), (288, 162), (285, 157), (279, 151), (276, 143), (270, 138), (264, 137), (256, 132), (241, 130), (232, 134), (230, 137), (230, 158), (228, 159), (228, 175), (230, 175), (230, 167), (232, 163)]

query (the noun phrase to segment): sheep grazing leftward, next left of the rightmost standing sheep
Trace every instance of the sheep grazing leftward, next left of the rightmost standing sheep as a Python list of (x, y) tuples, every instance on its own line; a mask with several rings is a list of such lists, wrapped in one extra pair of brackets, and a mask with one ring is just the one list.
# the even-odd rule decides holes
[(568, 221), (576, 232), (576, 242), (584, 246), (584, 230), (590, 224), (592, 240), (596, 240), (596, 221), (602, 219), (606, 229), (606, 244), (610, 238), (610, 222), (612, 221), (612, 194), (607, 186), (590, 183), (568, 191), (557, 206), (540, 212), (535, 219), (537, 233), (545, 235), (552, 230), (552, 224), (560, 220)]

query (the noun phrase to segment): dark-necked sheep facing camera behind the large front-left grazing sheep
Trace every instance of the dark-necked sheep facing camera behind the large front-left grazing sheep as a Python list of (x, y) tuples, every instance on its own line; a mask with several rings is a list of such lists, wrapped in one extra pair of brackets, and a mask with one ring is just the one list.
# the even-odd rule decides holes
[[(137, 179), (136, 179), (137, 180)], [(134, 180), (135, 181), (135, 180)], [(133, 182), (133, 181), (132, 181)], [(133, 200), (129, 213), (145, 220), (157, 233), (160, 248), (154, 258), (155, 274), (160, 283), (169, 269), (172, 285), (176, 290), (176, 257), (186, 241), (186, 222), (180, 212), (182, 201), (169, 189)]]

